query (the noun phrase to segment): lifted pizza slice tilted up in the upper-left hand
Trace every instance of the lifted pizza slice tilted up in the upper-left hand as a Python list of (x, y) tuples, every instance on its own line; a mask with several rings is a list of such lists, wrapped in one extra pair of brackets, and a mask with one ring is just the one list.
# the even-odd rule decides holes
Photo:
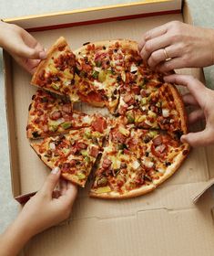
[(46, 59), (41, 60), (31, 80), (31, 84), (69, 95), (71, 101), (78, 101), (75, 84), (76, 57), (66, 39), (59, 37), (47, 51)]

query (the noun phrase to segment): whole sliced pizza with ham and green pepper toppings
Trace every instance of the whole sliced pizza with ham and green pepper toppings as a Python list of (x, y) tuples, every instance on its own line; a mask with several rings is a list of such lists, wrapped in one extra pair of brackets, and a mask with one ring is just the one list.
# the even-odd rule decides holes
[[(91, 175), (90, 197), (114, 199), (146, 194), (178, 170), (189, 154), (180, 142), (188, 133), (184, 104), (177, 87), (143, 62), (137, 42), (87, 43), (72, 52), (60, 37), (48, 53), (31, 82), (40, 89), (26, 128), (47, 166), (81, 187)], [(77, 111), (76, 101), (108, 115)]]

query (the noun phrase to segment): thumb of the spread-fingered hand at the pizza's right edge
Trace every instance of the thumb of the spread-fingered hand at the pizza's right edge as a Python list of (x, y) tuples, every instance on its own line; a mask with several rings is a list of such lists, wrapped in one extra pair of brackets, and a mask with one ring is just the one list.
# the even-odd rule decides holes
[(182, 143), (188, 143), (191, 146), (202, 146), (213, 143), (213, 138), (209, 133), (209, 129), (205, 129), (199, 133), (184, 134), (180, 138)]

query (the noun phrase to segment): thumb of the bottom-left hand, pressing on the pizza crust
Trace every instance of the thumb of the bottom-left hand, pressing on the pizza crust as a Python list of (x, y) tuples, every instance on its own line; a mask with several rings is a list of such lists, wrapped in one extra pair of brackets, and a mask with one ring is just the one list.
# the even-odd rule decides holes
[(51, 171), (51, 173), (47, 176), (43, 187), (40, 189), (41, 193), (49, 197), (52, 197), (52, 193), (56, 187), (57, 182), (59, 181), (59, 177), (60, 177), (60, 170), (58, 167), (55, 167)]

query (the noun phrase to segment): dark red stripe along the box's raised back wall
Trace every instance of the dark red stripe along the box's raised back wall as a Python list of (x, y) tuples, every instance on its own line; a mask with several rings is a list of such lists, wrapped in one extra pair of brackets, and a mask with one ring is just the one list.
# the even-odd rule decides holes
[(31, 27), (31, 28), (26, 28), (25, 30), (28, 32), (45, 31), (45, 30), (52, 30), (52, 29), (59, 29), (59, 28), (66, 28), (66, 27), (77, 27), (77, 26), (85, 26), (85, 25), (98, 24), (98, 23), (104, 23), (104, 22), (134, 19), (139, 17), (179, 14), (180, 12), (181, 10), (178, 9), (178, 10), (162, 11), (162, 12), (155, 12), (155, 13), (148, 13), (148, 14), (131, 15), (131, 16), (116, 16), (116, 17), (108, 17), (108, 18), (94, 19), (94, 20), (88, 20), (88, 21), (45, 26), (45, 27)]

